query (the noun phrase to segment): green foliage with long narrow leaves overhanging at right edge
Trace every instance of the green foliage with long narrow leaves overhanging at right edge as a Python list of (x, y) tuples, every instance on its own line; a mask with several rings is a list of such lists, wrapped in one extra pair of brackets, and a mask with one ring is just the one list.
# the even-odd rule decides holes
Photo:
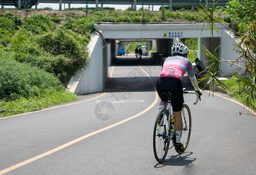
[[(227, 23), (223, 20), (215, 19), (215, 17), (213, 17), (215, 4), (216, 2), (212, 6), (209, 6), (209, 11), (206, 10), (202, 4), (201, 6), (198, 6), (198, 10), (207, 15), (207, 19), (203, 25), (206, 22), (209, 23), (212, 37), (214, 29), (218, 32), (215, 23)], [(219, 81), (219, 71), (217, 68), (220, 68), (220, 62), (230, 62), (231, 65), (236, 65), (240, 68), (243, 68), (243, 76), (240, 76), (236, 73), (233, 73), (233, 76), (241, 82), (241, 85), (244, 85), (244, 91), (242, 93), (242, 96), (244, 97), (243, 103), (247, 107), (256, 111), (256, 1), (230, 1), (227, 3), (225, 12), (227, 13), (230, 19), (230, 23), (232, 24), (231, 27), (228, 27), (229, 30), (234, 31), (237, 35), (238, 43), (236, 44), (235, 50), (240, 56), (236, 58), (235, 61), (227, 61), (219, 58), (217, 54), (215, 56), (214, 54), (210, 53), (206, 47), (203, 47), (203, 50), (205, 51), (204, 54), (207, 55), (210, 59), (208, 61), (209, 65), (205, 69), (207, 74), (204, 78), (200, 79), (200, 81), (207, 80), (209, 83), (212, 83), (212, 86), (210, 87), (212, 92), (214, 92), (214, 85), (216, 82), (219, 83), (222, 88), (229, 89), (229, 87), (224, 85), (223, 82)], [(220, 72), (222, 72), (221, 69)]]

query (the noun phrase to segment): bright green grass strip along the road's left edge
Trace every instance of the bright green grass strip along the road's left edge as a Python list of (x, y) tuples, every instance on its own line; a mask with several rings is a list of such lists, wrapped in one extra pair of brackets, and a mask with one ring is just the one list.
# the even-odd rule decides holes
[(33, 110), (54, 106), (57, 104), (67, 103), (68, 101), (77, 100), (77, 95), (65, 90), (61, 91), (45, 91), (39, 96), (31, 96), (29, 98), (21, 97), (14, 101), (0, 101), (1, 117), (27, 113)]

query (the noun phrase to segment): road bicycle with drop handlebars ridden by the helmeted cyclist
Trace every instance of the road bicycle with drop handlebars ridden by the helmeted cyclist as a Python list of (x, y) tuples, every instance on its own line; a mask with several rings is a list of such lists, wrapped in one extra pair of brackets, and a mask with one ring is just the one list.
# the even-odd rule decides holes
[[(196, 101), (193, 104), (198, 103), (200, 99), (199, 95), (195, 91), (186, 91), (183, 89), (184, 94), (195, 94)], [(174, 128), (174, 117), (172, 114), (171, 106), (171, 93), (164, 92), (164, 95), (168, 96), (168, 104), (166, 108), (159, 111), (154, 125), (154, 135), (153, 135), (153, 148), (154, 155), (157, 162), (164, 162), (167, 156), (168, 150), (174, 147), (175, 144), (175, 128)], [(191, 135), (191, 111), (187, 104), (183, 104), (182, 107), (182, 122), (183, 131), (181, 136), (181, 143), (188, 147), (190, 135)], [(170, 141), (172, 141), (172, 146), (170, 147)], [(169, 148), (170, 147), (170, 148)]]

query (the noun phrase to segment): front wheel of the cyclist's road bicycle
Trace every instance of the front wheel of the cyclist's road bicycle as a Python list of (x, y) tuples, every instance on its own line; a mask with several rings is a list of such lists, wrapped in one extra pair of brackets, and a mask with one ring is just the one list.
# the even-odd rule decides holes
[[(181, 143), (188, 147), (190, 135), (191, 135), (191, 111), (189, 110), (188, 105), (184, 104), (182, 108), (182, 122), (183, 122), (183, 131), (181, 135)], [(185, 150), (186, 150), (185, 148)], [(185, 151), (184, 150), (184, 151)]]

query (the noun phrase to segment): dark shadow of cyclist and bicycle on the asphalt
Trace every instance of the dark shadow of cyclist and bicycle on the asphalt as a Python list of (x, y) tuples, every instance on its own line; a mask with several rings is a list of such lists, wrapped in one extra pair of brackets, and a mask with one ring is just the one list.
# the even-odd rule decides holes
[(196, 160), (196, 158), (189, 157), (193, 152), (185, 152), (181, 155), (172, 155), (167, 157), (164, 162), (155, 164), (155, 168), (161, 168), (164, 166), (188, 166)]

